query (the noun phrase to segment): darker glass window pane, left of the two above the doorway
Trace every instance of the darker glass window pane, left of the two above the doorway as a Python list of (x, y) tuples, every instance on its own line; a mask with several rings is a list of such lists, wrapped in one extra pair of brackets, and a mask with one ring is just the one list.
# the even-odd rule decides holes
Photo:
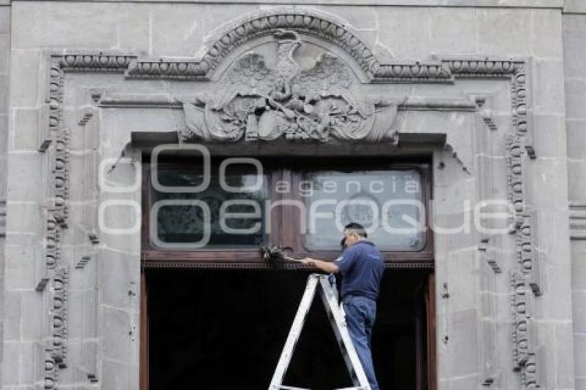
[[(234, 167), (237, 165), (230, 165)], [(188, 201), (202, 201), (210, 210), (210, 236), (205, 249), (258, 247), (265, 242), (264, 208), (268, 194), (266, 175), (257, 175), (254, 168), (245, 170), (228, 169), (225, 186), (233, 187), (229, 192), (221, 187), (217, 167), (212, 166), (210, 185), (201, 192), (159, 192), (152, 189), (152, 206), (159, 201), (183, 200), (182, 205), (164, 205), (159, 208), (156, 218), (157, 238), (168, 249), (197, 249), (172, 246), (173, 243), (199, 243), (204, 239), (204, 211), (199, 205), (189, 205)], [(201, 167), (192, 169), (175, 167), (158, 171), (159, 183), (165, 186), (194, 187), (203, 183)], [(260, 185), (256, 183), (261, 182)], [(242, 187), (260, 187), (258, 190), (239, 191)], [(225, 207), (224, 224), (221, 223), (221, 207)], [(153, 209), (152, 209), (153, 210)], [(230, 214), (238, 214), (236, 216)], [(226, 227), (228, 229), (226, 229)], [(154, 234), (154, 232), (151, 232)]]

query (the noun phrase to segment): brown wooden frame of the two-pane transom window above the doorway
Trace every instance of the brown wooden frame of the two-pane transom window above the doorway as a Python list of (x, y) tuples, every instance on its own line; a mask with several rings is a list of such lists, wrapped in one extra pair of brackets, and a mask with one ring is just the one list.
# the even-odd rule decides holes
[[(265, 166), (265, 161), (263, 161)], [(336, 161), (329, 161), (327, 158), (319, 158), (314, 161), (303, 160), (304, 165), (299, 165), (299, 161), (279, 159), (276, 163), (267, 163), (266, 166), (274, 168), (269, 175), (269, 194), (271, 201), (283, 200), (283, 198), (303, 201), (303, 197), (296, 192), (297, 185), (303, 180), (303, 172), (307, 172), (304, 167), (310, 167), (309, 170), (327, 170), (336, 169)], [(327, 164), (326, 164), (327, 163)], [(407, 267), (407, 268), (428, 268), (432, 269), (434, 265), (434, 244), (432, 229), (430, 229), (430, 200), (431, 193), (431, 169), (429, 163), (407, 162), (395, 163), (381, 159), (369, 159), (363, 161), (369, 170), (417, 170), (421, 174), (421, 194), (422, 201), (425, 205), (425, 224), (426, 243), (425, 247), (418, 252), (393, 252), (381, 251), (385, 256), (387, 267)], [(306, 165), (305, 165), (306, 164)], [(188, 163), (177, 161), (166, 163), (166, 167), (188, 166)], [(316, 168), (318, 167), (318, 168)], [(299, 169), (298, 169), (299, 168)], [(151, 186), (150, 186), (150, 164), (143, 164), (143, 221), (142, 221), (142, 251), (141, 258), (144, 267), (203, 267), (203, 268), (266, 268), (269, 267), (261, 258), (259, 248), (221, 248), (214, 247), (209, 249), (197, 249), (192, 251), (169, 250), (154, 247), (150, 242), (150, 205)], [(271, 181), (285, 180), (291, 183), (292, 192), (289, 194), (279, 194)], [(311, 256), (314, 258), (336, 258), (339, 251), (335, 250), (310, 250), (305, 247), (305, 236), (296, 234), (299, 227), (300, 216), (296, 207), (285, 206), (274, 209), (270, 216), (271, 232), (268, 238), (269, 242), (290, 249), (293, 256)], [(287, 221), (287, 223), (281, 223)], [(286, 268), (305, 268), (304, 265), (287, 265)]]

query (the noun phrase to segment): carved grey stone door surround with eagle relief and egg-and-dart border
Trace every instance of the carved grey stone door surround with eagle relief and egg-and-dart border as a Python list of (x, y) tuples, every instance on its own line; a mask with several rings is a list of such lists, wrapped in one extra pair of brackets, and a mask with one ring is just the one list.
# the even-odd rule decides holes
[[(320, 41), (321, 44), (316, 44)], [(246, 45), (246, 47), (244, 47)], [(253, 50), (246, 52), (246, 50)], [(523, 389), (539, 386), (543, 351), (536, 340), (532, 304), (541, 294), (536, 224), (528, 207), (525, 169), (535, 157), (531, 140), (527, 63), (513, 59), (440, 59), (434, 63), (381, 63), (374, 53), (350, 32), (347, 25), (307, 10), (270, 10), (253, 15), (209, 46), (194, 59), (141, 59), (132, 53), (66, 52), (52, 55), (50, 101), (47, 116), (50, 141), (54, 143), (50, 173), (50, 215), (43, 257), (48, 271), (45, 285), (52, 292), (50, 337), (46, 347), (45, 388), (58, 385), (59, 369), (67, 365), (68, 262), (61, 258), (60, 233), (68, 229), (69, 130), (62, 121), (65, 72), (121, 74), (128, 80), (190, 82), (196, 96), (177, 101), (123, 101), (127, 107), (182, 108), (187, 124), (182, 141), (271, 141), (277, 138), (310, 141), (382, 141), (392, 138), (391, 127), (401, 96), (394, 100), (373, 96), (386, 84), (453, 84), (458, 79), (510, 81), (512, 127), (507, 137), (507, 187), (514, 205), (512, 238), (516, 243), (514, 271), (510, 274), (510, 341), (513, 369), (520, 372)], [(357, 75), (361, 75), (358, 77)], [(130, 85), (130, 84), (129, 84)], [(381, 90), (383, 90), (381, 88)], [(449, 101), (405, 103), (414, 109), (452, 110)], [(419, 106), (416, 106), (418, 105)], [(403, 109), (405, 107), (402, 107)], [(85, 121), (86, 119), (83, 119)], [(490, 128), (494, 127), (483, 118)], [(455, 155), (455, 152), (454, 152)], [(503, 181), (505, 178), (503, 177)], [(72, 227), (75, 228), (75, 227)], [(92, 243), (99, 240), (90, 235)], [(498, 262), (483, 254), (495, 272), (505, 268), (505, 255)], [(210, 264), (200, 264), (208, 267)], [(216, 268), (236, 265), (214, 264)], [(240, 265), (238, 266), (240, 267)], [(247, 267), (253, 267), (248, 265)], [(504, 272), (503, 272), (504, 274)], [(492, 377), (491, 377), (492, 378)], [(492, 379), (487, 380), (487, 383)]]

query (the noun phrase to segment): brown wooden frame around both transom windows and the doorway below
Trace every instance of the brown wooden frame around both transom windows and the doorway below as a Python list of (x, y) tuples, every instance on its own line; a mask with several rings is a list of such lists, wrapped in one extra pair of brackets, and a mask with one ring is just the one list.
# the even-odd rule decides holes
[[(175, 163), (174, 165), (179, 166)], [(287, 165), (287, 163), (283, 163)], [(336, 167), (330, 163), (330, 167)], [(369, 169), (374, 165), (369, 165)], [(423, 204), (425, 205), (425, 223), (426, 245), (419, 252), (390, 252), (382, 251), (385, 256), (385, 263), (389, 268), (421, 268), (427, 273), (427, 284), (425, 285), (425, 311), (426, 311), (426, 330), (427, 330), (427, 389), (437, 389), (437, 368), (436, 368), (436, 307), (435, 307), (435, 284), (434, 284), (434, 243), (433, 232), (430, 229), (430, 201), (432, 200), (432, 176), (429, 163), (383, 163), (380, 167), (386, 169), (416, 169), (421, 174), (421, 189), (423, 195)], [(295, 176), (296, 175), (296, 176)], [(286, 177), (285, 177), (286, 176)], [(290, 179), (294, 183), (301, 180), (301, 172), (294, 173), (294, 170), (278, 170), (273, 176), (277, 180)], [(279, 200), (281, 194), (278, 194), (274, 185), (269, 185), (269, 196), (272, 201)], [(148, 294), (146, 289), (147, 280), (145, 278), (145, 268), (157, 267), (201, 267), (201, 268), (260, 268), (266, 269), (272, 266), (267, 265), (261, 259), (259, 249), (221, 249), (210, 248), (198, 251), (170, 251), (152, 247), (150, 243), (150, 172), (149, 164), (143, 165), (143, 221), (142, 221), (142, 266), (141, 271), (141, 373), (140, 388), (141, 390), (149, 389), (149, 351), (148, 351)], [(295, 194), (295, 192), (293, 192)], [(280, 246), (290, 246), (293, 249), (294, 256), (314, 256), (322, 258), (335, 258), (339, 256), (338, 251), (309, 251), (303, 246), (303, 240), (299, 234), (294, 234), (294, 229), (283, 229), (280, 224), (283, 213), (291, 210), (281, 209), (281, 212), (271, 214), (272, 232), (270, 240), (272, 243)], [(299, 214), (293, 214), (299, 219)], [(295, 218), (295, 217), (292, 217)], [(293, 224), (299, 224), (295, 220)], [(292, 264), (287, 265), (288, 269), (305, 269), (305, 265)], [(421, 367), (421, 362), (418, 362)], [(421, 368), (419, 369), (421, 371)], [(424, 389), (425, 385), (421, 381), (422, 373), (418, 373), (418, 389)]]

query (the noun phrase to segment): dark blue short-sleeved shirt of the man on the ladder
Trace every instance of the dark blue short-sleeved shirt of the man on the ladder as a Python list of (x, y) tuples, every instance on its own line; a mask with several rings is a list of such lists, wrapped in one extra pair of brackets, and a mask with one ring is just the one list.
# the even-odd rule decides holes
[(334, 260), (342, 274), (341, 299), (347, 295), (376, 300), (385, 269), (383, 255), (369, 240), (359, 240)]

